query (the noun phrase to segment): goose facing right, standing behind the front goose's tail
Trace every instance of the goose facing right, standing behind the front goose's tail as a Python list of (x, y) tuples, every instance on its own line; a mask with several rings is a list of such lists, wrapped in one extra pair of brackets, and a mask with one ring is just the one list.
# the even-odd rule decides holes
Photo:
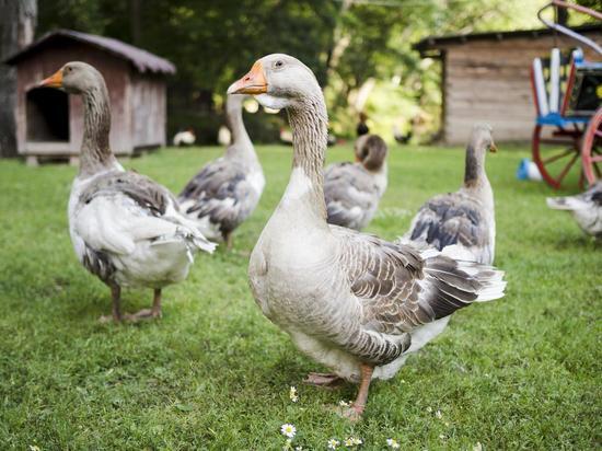
[(487, 150), (497, 151), (491, 127), (475, 124), (466, 148), (464, 186), (427, 200), (403, 240), (439, 251), (456, 244), (470, 251), (476, 262), (494, 263), (496, 219), (494, 192), (485, 172)]

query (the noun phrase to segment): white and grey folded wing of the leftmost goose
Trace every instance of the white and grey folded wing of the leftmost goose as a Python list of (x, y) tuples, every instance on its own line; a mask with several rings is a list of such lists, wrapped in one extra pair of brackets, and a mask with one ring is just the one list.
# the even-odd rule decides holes
[(129, 254), (136, 243), (184, 240), (189, 250), (215, 247), (180, 211), (167, 188), (136, 172), (115, 171), (81, 193), (74, 231), (96, 252)]

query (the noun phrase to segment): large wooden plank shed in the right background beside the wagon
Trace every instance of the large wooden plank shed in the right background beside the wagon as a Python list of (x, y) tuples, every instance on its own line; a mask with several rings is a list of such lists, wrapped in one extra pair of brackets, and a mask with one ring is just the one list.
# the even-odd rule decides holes
[[(602, 26), (574, 28), (602, 43)], [(551, 30), (427, 37), (414, 46), (424, 58), (442, 65), (442, 137), (447, 143), (466, 142), (476, 120), (488, 122), (498, 141), (528, 141), (535, 120), (530, 69), (535, 57), (548, 58), (553, 47), (578, 46)], [(600, 56), (583, 47), (586, 58)]]

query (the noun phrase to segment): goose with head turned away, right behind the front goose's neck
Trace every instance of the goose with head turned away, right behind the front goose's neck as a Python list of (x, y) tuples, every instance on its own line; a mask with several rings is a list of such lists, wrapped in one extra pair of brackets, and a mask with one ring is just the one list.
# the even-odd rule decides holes
[(355, 144), (356, 163), (326, 167), (324, 195), (328, 223), (361, 230), (372, 220), (386, 189), (386, 144), (362, 135)]

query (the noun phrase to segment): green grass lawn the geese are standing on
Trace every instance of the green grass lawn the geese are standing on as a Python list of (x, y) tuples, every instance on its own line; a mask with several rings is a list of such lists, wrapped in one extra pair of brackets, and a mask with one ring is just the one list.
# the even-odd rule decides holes
[[(306, 372), (324, 369), (262, 315), (247, 287), (248, 254), (286, 186), (290, 148), (258, 148), (266, 190), (234, 251), (199, 255), (188, 279), (164, 291), (163, 320), (121, 326), (99, 323), (109, 291), (71, 248), (76, 169), (1, 161), (0, 448), (279, 450), (285, 423), (297, 427), (293, 446), (311, 450), (350, 436), (367, 450), (387, 438), (407, 450), (600, 447), (601, 246), (546, 208), (551, 189), (514, 178), (526, 148), (499, 147), (488, 173), (506, 298), (458, 312), (393, 380), (372, 385), (355, 425), (331, 407), (356, 388), (304, 386)], [(165, 149), (125, 163), (178, 192), (220, 153)], [(350, 158), (350, 147), (328, 151), (329, 161)], [(403, 234), (422, 201), (459, 187), (463, 158), (394, 147), (368, 231)], [(125, 291), (125, 310), (151, 294)]]

